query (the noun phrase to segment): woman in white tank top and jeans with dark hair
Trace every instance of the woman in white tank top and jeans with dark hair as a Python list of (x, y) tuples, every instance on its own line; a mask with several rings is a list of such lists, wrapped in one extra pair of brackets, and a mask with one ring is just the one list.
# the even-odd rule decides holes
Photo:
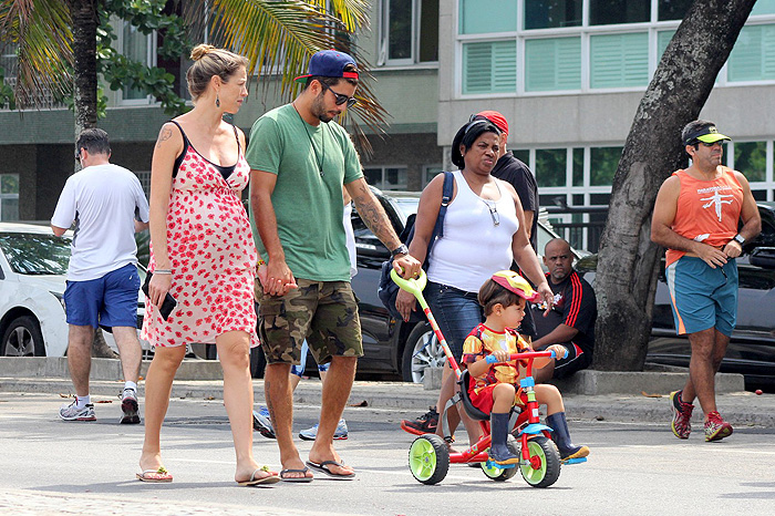
[[(487, 120), (474, 120), (457, 131), (452, 144), (452, 163), (459, 171), (453, 173), (455, 187), (444, 218), (444, 237), (434, 244), (431, 256), (426, 257), (442, 204), (444, 174), (440, 174), (420, 197), (410, 246), (410, 255), (420, 262), (430, 259), (425, 299), (457, 360), (463, 353), (465, 338), (484, 320), (477, 301), (479, 288), (494, 272), (510, 268), (513, 259), (537, 285), (542, 299), (552, 300), (527, 237), (519, 197), (510, 184), (490, 175), (498, 159), (499, 136), (499, 130)], [(404, 320), (409, 320), (415, 299), (402, 290), (395, 306)], [(436, 404), (440, 411), (454, 394), (451, 373), (445, 363)], [(461, 415), (472, 443), (476, 442), (480, 433), (478, 425), (465, 414)]]

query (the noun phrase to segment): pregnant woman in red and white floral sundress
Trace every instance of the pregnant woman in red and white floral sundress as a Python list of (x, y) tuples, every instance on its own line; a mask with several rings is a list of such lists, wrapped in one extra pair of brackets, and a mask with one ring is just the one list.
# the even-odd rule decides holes
[[(279, 481), (252, 456), (250, 347), (258, 345), (254, 278), (258, 256), (240, 200), (250, 167), (245, 135), (223, 120), (247, 96), (241, 55), (200, 44), (186, 79), (194, 109), (164, 124), (151, 168), (151, 264), (141, 337), (155, 347), (145, 379), (144, 482), (172, 482), (162, 463), (159, 432), (173, 379), (193, 342), (215, 343), (224, 369), (224, 403), (231, 425), (240, 485)], [(169, 293), (177, 306), (159, 313)]]

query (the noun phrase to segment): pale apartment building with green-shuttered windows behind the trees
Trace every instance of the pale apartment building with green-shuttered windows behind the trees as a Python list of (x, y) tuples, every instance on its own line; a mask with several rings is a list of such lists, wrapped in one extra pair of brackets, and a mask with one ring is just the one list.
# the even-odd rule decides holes
[[(356, 41), (391, 126), (384, 138), (370, 135), (368, 180), (421, 189), (451, 166), (452, 137), (468, 116), (497, 110), (542, 205), (608, 204), (640, 99), (691, 2), (374, 0), (371, 28)], [(153, 37), (121, 32), (124, 52), (154, 62)], [(280, 103), (273, 87), (254, 84), (235, 122), (248, 132)], [(701, 114), (733, 137), (726, 163), (746, 174), (758, 200), (775, 200), (773, 112), (775, 0), (758, 0)], [(114, 161), (144, 179), (164, 120), (152, 99), (113, 92), (100, 125), (113, 137)], [(14, 199), (3, 197), (13, 195), (20, 218), (50, 216), (72, 171), (72, 126), (62, 109), (0, 112), (0, 217), (13, 215)]]

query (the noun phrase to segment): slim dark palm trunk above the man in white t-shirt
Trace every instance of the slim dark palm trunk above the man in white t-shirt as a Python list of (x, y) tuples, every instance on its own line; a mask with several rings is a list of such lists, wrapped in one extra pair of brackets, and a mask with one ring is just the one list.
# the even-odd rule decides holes
[(99, 0), (71, 0), (73, 20), (75, 137), (84, 128), (96, 127), (96, 30)]

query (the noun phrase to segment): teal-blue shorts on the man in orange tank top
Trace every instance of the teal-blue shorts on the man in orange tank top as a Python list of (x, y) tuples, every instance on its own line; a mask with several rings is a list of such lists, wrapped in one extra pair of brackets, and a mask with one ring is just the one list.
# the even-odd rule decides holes
[(701, 258), (684, 256), (666, 269), (675, 332), (715, 328), (726, 337), (737, 320), (737, 262), (711, 268)]

